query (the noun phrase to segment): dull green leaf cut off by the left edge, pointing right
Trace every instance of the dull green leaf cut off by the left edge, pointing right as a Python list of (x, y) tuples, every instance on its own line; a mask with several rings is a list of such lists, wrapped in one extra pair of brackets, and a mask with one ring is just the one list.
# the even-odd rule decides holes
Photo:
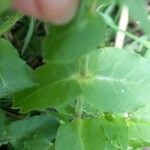
[(9, 42), (0, 39), (0, 98), (33, 85), (29, 67)]

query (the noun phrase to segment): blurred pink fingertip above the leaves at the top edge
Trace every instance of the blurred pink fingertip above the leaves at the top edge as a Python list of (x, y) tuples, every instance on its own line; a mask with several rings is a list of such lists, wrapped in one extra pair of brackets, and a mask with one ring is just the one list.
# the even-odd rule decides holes
[(75, 15), (79, 0), (13, 0), (13, 8), (39, 19), (61, 25)]

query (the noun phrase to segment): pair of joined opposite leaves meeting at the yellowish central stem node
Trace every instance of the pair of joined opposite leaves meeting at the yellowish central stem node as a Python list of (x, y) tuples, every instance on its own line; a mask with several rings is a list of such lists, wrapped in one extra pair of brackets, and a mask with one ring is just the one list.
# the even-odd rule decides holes
[(132, 52), (107, 48), (86, 61), (47, 64), (38, 70), (39, 86), (15, 94), (14, 107), (23, 112), (67, 106), (83, 95), (85, 109), (134, 112), (149, 104), (150, 61)]

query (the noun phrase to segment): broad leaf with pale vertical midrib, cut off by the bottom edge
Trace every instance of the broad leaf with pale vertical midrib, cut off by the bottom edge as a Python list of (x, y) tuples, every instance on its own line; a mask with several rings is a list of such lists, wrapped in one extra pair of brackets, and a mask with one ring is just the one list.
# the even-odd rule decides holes
[(78, 119), (60, 126), (56, 150), (126, 150), (127, 139), (127, 126), (119, 119)]

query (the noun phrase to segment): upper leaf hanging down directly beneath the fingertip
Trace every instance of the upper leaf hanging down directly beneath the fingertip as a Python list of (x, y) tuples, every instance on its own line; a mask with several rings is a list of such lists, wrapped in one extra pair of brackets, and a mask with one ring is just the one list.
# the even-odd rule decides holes
[[(97, 3), (97, 0), (81, 1), (75, 20), (65, 26), (50, 27), (50, 34), (43, 44), (48, 61), (69, 62), (103, 43), (106, 25), (96, 12)], [(105, 3), (98, 4), (104, 6)]]

